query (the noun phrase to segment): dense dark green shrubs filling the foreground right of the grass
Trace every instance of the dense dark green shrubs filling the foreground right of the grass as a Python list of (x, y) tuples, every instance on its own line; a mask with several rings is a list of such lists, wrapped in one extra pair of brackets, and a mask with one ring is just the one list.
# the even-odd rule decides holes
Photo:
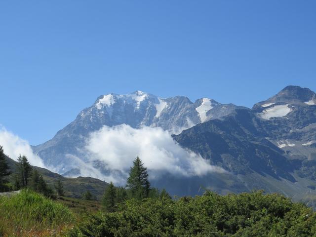
[(130, 199), (90, 215), (71, 237), (313, 237), (316, 213), (278, 194)]

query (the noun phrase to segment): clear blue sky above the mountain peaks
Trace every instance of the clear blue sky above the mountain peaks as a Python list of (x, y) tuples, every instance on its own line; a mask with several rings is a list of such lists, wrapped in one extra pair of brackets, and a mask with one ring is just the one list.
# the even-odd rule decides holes
[(37, 145), (101, 94), (251, 107), (316, 90), (315, 0), (2, 0), (0, 124)]

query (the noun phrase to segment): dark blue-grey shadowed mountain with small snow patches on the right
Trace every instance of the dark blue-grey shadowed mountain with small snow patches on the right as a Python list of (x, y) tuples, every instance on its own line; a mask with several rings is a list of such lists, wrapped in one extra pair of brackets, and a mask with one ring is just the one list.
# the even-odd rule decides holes
[(235, 174), (249, 190), (301, 199), (316, 189), (316, 94), (287, 86), (251, 110), (237, 109), (174, 139)]

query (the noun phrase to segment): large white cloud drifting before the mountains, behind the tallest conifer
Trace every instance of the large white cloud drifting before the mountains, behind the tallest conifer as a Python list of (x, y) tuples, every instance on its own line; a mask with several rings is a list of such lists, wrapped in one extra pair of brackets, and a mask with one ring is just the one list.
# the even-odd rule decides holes
[[(200, 155), (180, 147), (161, 128), (129, 125), (104, 126), (90, 134), (85, 149), (90, 161), (103, 161), (110, 169), (108, 178), (117, 184), (125, 180), (132, 161), (139, 156), (148, 168), (151, 179), (164, 173), (181, 176), (202, 176), (210, 172), (225, 172), (210, 165)], [(122, 177), (125, 176), (125, 177)], [(106, 181), (109, 181), (107, 178)]]

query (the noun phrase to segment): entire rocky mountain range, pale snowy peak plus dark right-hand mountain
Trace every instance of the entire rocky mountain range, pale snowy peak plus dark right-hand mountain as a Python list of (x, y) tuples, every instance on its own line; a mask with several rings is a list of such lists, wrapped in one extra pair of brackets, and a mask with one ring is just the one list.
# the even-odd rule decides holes
[(178, 187), (176, 194), (194, 195), (200, 185), (219, 193), (265, 189), (296, 199), (315, 192), (316, 94), (310, 89), (287, 86), (252, 109), (206, 98), (195, 103), (180, 96), (161, 99), (140, 91), (100, 96), (34, 151), (47, 165), (76, 175), (79, 171), (70, 155), (79, 156), (78, 148), (88, 134), (103, 125), (122, 123), (177, 134), (173, 138), (182, 147), (228, 171), (185, 181), (179, 177), (154, 181), (159, 187), (168, 186), (169, 192)]

